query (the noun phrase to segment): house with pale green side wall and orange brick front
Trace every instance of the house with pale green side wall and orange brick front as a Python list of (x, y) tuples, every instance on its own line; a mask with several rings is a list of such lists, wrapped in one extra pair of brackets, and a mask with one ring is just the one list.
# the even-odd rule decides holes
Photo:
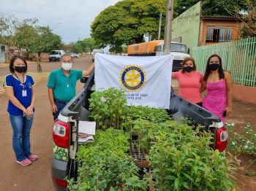
[(205, 16), (201, 12), (199, 1), (173, 19), (172, 40), (192, 48), (238, 39), (241, 22), (237, 17)]

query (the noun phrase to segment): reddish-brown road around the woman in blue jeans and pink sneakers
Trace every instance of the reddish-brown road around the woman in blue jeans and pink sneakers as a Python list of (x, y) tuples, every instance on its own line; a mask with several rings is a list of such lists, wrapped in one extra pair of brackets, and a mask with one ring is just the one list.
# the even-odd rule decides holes
[[(91, 58), (76, 58), (74, 69), (87, 69), (91, 64)], [(58, 69), (60, 63), (42, 63), (44, 71)], [(35, 71), (36, 64), (29, 65), (29, 71)], [(1, 69), (5, 75), (8, 69)], [(7, 109), (7, 97), (0, 95), (0, 190), (34, 191), (53, 190), (53, 183), (50, 174), (50, 159), (52, 157), (53, 141), (52, 126), (53, 117), (50, 113), (50, 104), (47, 93), (47, 80), (44, 79), (36, 84), (37, 102), (35, 105), (35, 118), (31, 129), (31, 151), (39, 155), (39, 160), (31, 165), (23, 167), (15, 162), (15, 155), (12, 151), (12, 128), (10, 125)], [(78, 82), (77, 90), (83, 84)]]

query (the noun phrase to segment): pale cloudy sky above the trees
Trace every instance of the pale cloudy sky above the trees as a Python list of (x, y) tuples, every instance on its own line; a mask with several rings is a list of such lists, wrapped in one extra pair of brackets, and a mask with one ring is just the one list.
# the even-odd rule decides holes
[(1, 0), (0, 12), (23, 20), (36, 17), (65, 44), (90, 37), (91, 23), (99, 12), (120, 0)]

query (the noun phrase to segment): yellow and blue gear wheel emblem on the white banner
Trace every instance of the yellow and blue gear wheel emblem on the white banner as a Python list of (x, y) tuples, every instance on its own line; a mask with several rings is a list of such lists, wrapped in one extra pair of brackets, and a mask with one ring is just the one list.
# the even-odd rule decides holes
[(146, 72), (138, 65), (129, 65), (121, 71), (121, 85), (129, 91), (137, 91), (146, 83)]

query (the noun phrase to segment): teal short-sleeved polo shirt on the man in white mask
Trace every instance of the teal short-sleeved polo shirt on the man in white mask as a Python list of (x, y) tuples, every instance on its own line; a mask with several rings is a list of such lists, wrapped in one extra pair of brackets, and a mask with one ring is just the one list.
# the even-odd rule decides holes
[(62, 69), (50, 72), (47, 87), (53, 89), (53, 98), (60, 101), (70, 101), (75, 97), (75, 87), (78, 79), (83, 77), (83, 71), (70, 70), (67, 77)]

